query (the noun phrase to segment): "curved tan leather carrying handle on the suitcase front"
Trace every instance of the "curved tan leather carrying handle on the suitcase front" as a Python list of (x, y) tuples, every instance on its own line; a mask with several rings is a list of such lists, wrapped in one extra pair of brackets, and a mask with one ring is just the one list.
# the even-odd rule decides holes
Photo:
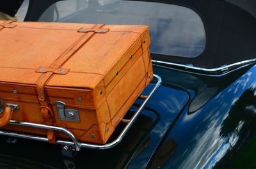
[(11, 104), (11, 103), (6, 103), (7, 107), (4, 108), (4, 112), (1, 114), (2, 117), (0, 118), (0, 128), (8, 124), (12, 118), (12, 114), (15, 110), (19, 110), (19, 105)]

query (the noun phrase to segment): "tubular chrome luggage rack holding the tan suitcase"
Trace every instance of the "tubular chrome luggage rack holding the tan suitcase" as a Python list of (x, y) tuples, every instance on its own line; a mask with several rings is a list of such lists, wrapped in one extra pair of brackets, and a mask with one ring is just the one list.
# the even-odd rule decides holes
[[(154, 86), (152, 91), (150, 91), (148, 96), (145, 97), (145, 100), (143, 101), (143, 103), (141, 103), (140, 107), (138, 107), (138, 110), (136, 110), (134, 115), (132, 115), (131, 119), (129, 119), (129, 121), (127, 122), (126, 126), (124, 127), (124, 129), (122, 130), (120, 135), (118, 135), (117, 138), (113, 142), (109, 142), (104, 145), (79, 142), (77, 140), (76, 136), (74, 136), (68, 129), (57, 127), (57, 126), (48, 126), (45, 124), (35, 124), (35, 123), (31, 123), (31, 122), (19, 122), (19, 121), (10, 121), (9, 124), (16, 125), (16, 126), (26, 126), (26, 127), (31, 127), (31, 128), (47, 129), (47, 130), (53, 130), (53, 131), (59, 131), (59, 132), (65, 133), (66, 135), (68, 135), (71, 138), (72, 142), (67, 141), (67, 140), (56, 140), (56, 143), (62, 145), (62, 154), (66, 155), (66, 156), (71, 156), (70, 153), (73, 154), (72, 152), (80, 151), (81, 147), (89, 148), (89, 149), (98, 149), (98, 150), (110, 149), (112, 147), (115, 147), (115, 145), (117, 145), (118, 143), (120, 143), (122, 141), (122, 139), (124, 138), (127, 131), (131, 128), (134, 121), (136, 121), (136, 118), (138, 117), (138, 115), (141, 113), (141, 111), (143, 110), (145, 105), (148, 103), (150, 98), (152, 98), (154, 93), (157, 91), (157, 89), (161, 85), (161, 82), (162, 82), (161, 77), (154, 75), (154, 78), (157, 79), (156, 85)], [(31, 134), (26, 134), (26, 133), (14, 133), (13, 131), (3, 131), (3, 130), (1, 131), (0, 130), (0, 135), (13, 136), (13, 137), (19, 137), (19, 138), (28, 138), (31, 140), (48, 142), (48, 138), (44, 137), (44, 136), (31, 135)]]

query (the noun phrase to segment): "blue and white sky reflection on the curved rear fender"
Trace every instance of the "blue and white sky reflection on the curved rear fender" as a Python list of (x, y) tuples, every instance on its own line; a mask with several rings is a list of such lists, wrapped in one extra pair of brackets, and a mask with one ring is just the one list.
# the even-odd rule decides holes
[[(176, 140), (178, 150), (165, 168), (234, 167), (239, 165), (239, 159), (234, 157), (244, 153), (242, 150), (253, 139), (255, 143), (256, 66), (234, 82), (225, 78), (224, 86), (218, 84), (221, 91), (204, 107), (193, 114), (185, 110), (176, 122), (166, 142)], [(255, 146), (251, 148), (256, 151)], [(255, 161), (255, 154), (251, 155), (243, 161)]]

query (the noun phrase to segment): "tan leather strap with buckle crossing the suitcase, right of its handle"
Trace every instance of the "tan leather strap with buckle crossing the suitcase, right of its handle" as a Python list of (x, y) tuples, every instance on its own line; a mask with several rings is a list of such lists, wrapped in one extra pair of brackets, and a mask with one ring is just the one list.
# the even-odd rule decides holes
[[(64, 54), (60, 55), (56, 61), (54, 61), (50, 68), (38, 68), (36, 70), (37, 73), (44, 73), (37, 81), (37, 95), (38, 95), (38, 100), (40, 101), (41, 105), (41, 114), (42, 117), (44, 118), (45, 124), (47, 125), (53, 125), (54, 124), (54, 114), (52, 113), (51, 108), (48, 105), (47, 98), (45, 97), (45, 83), (49, 78), (51, 78), (52, 75), (54, 74), (59, 74), (59, 75), (66, 75), (68, 73), (68, 69), (61, 68), (61, 66), (72, 57), (74, 52), (76, 52), (84, 43), (86, 43), (90, 38), (92, 38), (93, 34), (95, 33), (106, 33), (108, 30), (106, 29), (100, 29), (104, 24), (97, 24), (93, 26), (92, 29), (85, 29), (81, 28), (77, 32), (78, 33), (86, 33), (79, 38)], [(47, 131), (47, 138), (49, 142), (51, 143), (56, 143), (56, 136), (54, 131)]]

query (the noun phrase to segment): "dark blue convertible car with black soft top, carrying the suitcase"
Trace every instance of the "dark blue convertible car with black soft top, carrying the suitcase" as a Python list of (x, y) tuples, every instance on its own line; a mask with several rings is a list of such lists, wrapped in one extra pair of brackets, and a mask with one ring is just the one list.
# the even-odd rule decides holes
[(162, 84), (115, 147), (0, 131), (0, 168), (256, 168), (255, 0), (30, 0), (25, 21), (146, 24)]

